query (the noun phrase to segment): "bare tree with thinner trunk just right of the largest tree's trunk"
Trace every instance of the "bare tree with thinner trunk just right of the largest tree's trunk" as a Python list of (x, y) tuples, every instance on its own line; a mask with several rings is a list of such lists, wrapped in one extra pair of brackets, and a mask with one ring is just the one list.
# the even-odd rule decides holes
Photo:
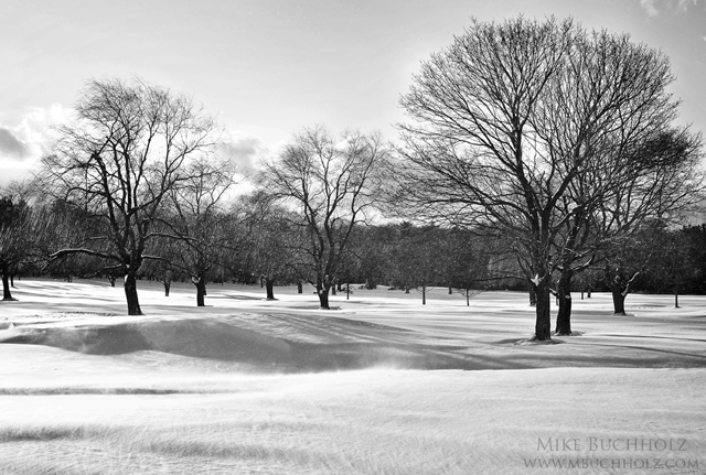
[[(571, 334), (571, 280), (597, 252), (668, 219), (698, 196), (700, 139), (675, 128), (678, 102), (666, 57), (628, 35), (578, 32), (553, 76), (533, 128), (552, 160), (573, 173), (557, 208), (558, 335)], [(571, 166), (577, 161), (580, 168)]]

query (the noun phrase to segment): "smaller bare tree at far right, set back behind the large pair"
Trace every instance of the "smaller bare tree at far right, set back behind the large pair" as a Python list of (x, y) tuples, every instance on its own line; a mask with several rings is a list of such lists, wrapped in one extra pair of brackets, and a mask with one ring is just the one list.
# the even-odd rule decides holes
[(686, 129), (666, 129), (646, 138), (630, 153), (655, 166), (643, 168), (600, 197), (592, 228), (616, 314), (625, 314), (631, 284), (652, 256), (664, 251), (654, 239), (655, 229), (682, 223), (702, 202), (700, 147), (700, 137)]

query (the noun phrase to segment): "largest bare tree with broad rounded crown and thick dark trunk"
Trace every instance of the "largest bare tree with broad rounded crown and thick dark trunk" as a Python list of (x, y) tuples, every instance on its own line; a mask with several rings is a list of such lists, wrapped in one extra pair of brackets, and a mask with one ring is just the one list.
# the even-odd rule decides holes
[(537, 295), (537, 339), (550, 339), (553, 274), (591, 259), (586, 225), (623, 184), (680, 168), (635, 153), (673, 130), (672, 80), (663, 54), (625, 35), (474, 20), (403, 96), (404, 196), (511, 242)]

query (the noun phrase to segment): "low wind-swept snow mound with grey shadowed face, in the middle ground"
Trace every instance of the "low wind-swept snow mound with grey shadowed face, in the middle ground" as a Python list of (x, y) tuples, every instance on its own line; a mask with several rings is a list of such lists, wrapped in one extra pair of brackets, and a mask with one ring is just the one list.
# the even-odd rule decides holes
[(0, 331), (0, 343), (43, 345), (88, 355), (131, 355), (133, 359), (157, 353), (162, 355), (158, 365), (173, 364), (173, 356), (180, 356), (212, 360), (220, 370), (518, 367), (512, 361), (479, 357), (467, 346), (431, 343), (407, 328), (324, 315), (61, 316), (9, 323)]

